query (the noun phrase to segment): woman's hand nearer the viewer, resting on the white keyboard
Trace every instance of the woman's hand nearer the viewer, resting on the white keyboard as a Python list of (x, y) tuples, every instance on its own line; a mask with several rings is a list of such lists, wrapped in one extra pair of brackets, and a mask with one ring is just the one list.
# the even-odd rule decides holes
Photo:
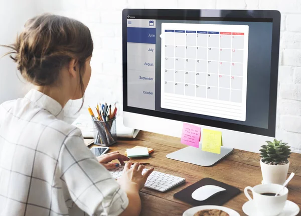
[(145, 168), (144, 165), (135, 163), (132, 168), (131, 165), (131, 162), (125, 164), (122, 176), (117, 182), (125, 191), (139, 191), (144, 186), (147, 177), (154, 171), (154, 168), (150, 168), (142, 174), (142, 170)]

